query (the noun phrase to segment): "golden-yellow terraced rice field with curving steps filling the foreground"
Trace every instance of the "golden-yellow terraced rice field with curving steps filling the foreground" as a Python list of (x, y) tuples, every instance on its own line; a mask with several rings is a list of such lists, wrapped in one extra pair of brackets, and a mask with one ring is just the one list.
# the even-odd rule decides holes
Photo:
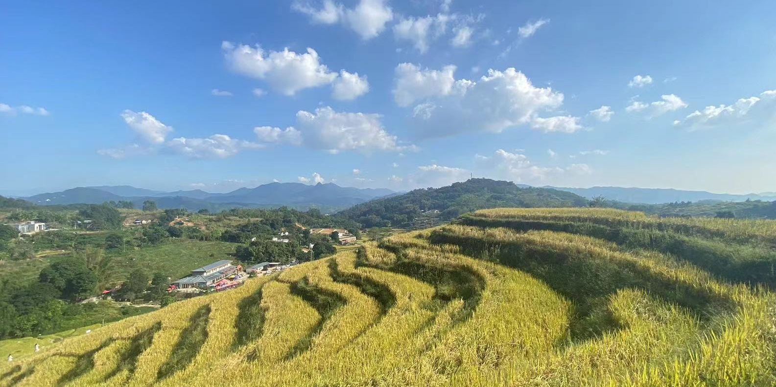
[(6, 386), (776, 384), (776, 228), (478, 211), (122, 320)]

